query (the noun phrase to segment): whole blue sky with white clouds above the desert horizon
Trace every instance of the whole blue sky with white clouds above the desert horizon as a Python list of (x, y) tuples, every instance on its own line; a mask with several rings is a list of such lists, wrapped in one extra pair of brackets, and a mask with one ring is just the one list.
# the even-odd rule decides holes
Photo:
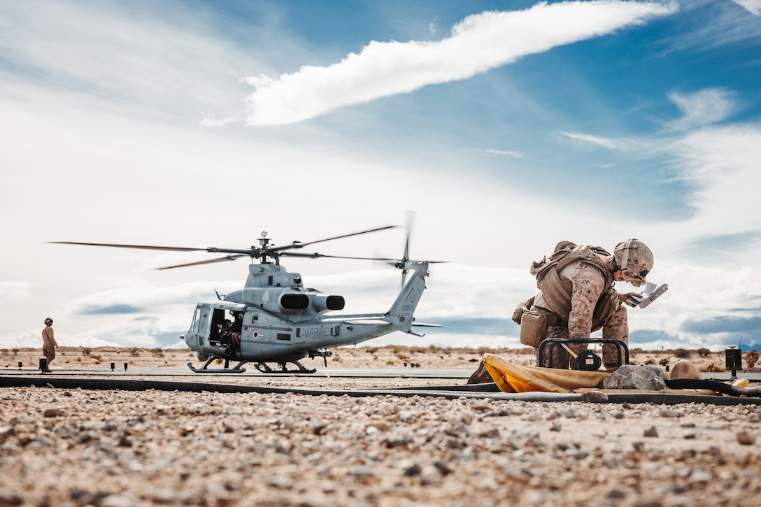
[[(761, 0), (4, 2), (0, 346), (181, 346), (243, 260), (46, 241), (248, 247), (403, 225), (431, 270), (376, 343), (517, 346), (561, 240), (655, 255), (631, 346), (761, 345)], [(400, 256), (403, 228), (318, 251)], [(206, 257), (202, 257), (205, 259)], [(289, 260), (347, 311), (399, 273)], [(632, 288), (622, 285), (622, 292)], [(11, 317), (11, 318), (8, 318)]]

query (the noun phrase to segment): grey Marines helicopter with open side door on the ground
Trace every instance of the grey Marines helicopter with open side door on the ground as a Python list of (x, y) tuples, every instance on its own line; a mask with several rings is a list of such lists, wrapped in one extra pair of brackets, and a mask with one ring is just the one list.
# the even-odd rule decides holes
[[(327, 358), (333, 356), (333, 352), (328, 347), (355, 345), (397, 330), (423, 336), (412, 332), (412, 327), (441, 327), (438, 324), (416, 323), (413, 317), (422, 292), (425, 290), (425, 278), (429, 274), (428, 264), (437, 261), (409, 260), (409, 231), (401, 260), (293, 251), (307, 245), (394, 227), (396, 226), (387, 225), (306, 243), (294, 241), (282, 246), (270, 244), (265, 231), (259, 239), (259, 247), (252, 246), (242, 250), (72, 241), (52, 241), (51, 243), (227, 254), (225, 257), (212, 260), (177, 264), (159, 269), (197, 266), (250, 257), (248, 277), (243, 289), (231, 292), (224, 298), (217, 294), (218, 301), (196, 305), (189, 330), (181, 338), (185, 340), (189, 349), (196, 352), (196, 357), (204, 364), (196, 368), (193, 363), (188, 363), (188, 367), (197, 373), (242, 373), (246, 371), (243, 365), (247, 362), (255, 362), (256, 369), (265, 373), (314, 373), (315, 368), (306, 368), (299, 361), (307, 356), (310, 359), (322, 357), (327, 366)], [(280, 257), (383, 260), (402, 270), (402, 290), (393, 301), (391, 308), (384, 313), (328, 315), (330, 311), (339, 311), (344, 308), (344, 298), (340, 295), (327, 295), (317, 289), (306, 288), (299, 273), (288, 272), (285, 266), (281, 266)], [(260, 262), (254, 263), (253, 261), (257, 259)], [(406, 279), (408, 273), (411, 274), (409, 280)], [(224, 361), (224, 369), (209, 368), (212, 361), (218, 359)], [(230, 361), (237, 361), (237, 365), (229, 368)], [(279, 368), (272, 368), (268, 363), (276, 363)], [(288, 369), (289, 363), (295, 365), (297, 369)]]

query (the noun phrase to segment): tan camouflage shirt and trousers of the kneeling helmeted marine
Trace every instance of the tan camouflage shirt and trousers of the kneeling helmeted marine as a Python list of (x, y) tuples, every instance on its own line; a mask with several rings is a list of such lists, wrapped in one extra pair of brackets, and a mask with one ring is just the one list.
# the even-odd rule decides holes
[[(594, 307), (608, 289), (605, 285), (605, 276), (600, 273), (600, 269), (590, 263), (577, 260), (568, 264), (558, 273), (559, 276), (571, 280), (573, 285), (571, 295), (571, 313), (568, 314), (568, 321), (562, 322), (559, 326), (547, 328), (546, 338), (589, 338), (592, 333), (592, 315)], [(543, 298), (542, 292), (537, 294), (533, 301), (534, 308), (549, 308)], [(564, 316), (560, 316), (564, 317)], [(603, 338), (614, 338), (621, 340), (623, 343), (629, 343), (629, 324), (626, 320), (626, 306), (620, 305), (613, 314), (613, 317), (607, 320), (603, 326)], [(567, 343), (569, 349), (572, 349), (577, 355), (578, 352), (587, 349), (586, 343)], [(603, 365), (607, 369), (615, 369), (618, 360), (617, 347), (610, 344), (603, 344)], [(539, 359), (539, 351), (534, 351)], [(540, 366), (546, 366), (549, 359), (549, 347), (543, 352), (544, 363)], [(622, 358), (623, 359), (623, 358)], [(552, 367), (553, 368), (570, 368), (578, 369), (578, 359), (574, 358), (562, 346), (554, 346), (552, 349)]]

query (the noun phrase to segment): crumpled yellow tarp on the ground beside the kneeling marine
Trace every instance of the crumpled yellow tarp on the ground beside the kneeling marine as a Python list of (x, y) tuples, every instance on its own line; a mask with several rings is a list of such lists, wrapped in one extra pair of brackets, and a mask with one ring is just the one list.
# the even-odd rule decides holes
[[(610, 373), (606, 371), (561, 370), (558, 368), (540, 368), (538, 366), (519, 366), (501, 359), (493, 354), (484, 354), (482, 361), (489, 375), (505, 393), (526, 393), (544, 391), (548, 393), (584, 393), (602, 391), (603, 393), (644, 393), (636, 389), (604, 389), (603, 381)], [(747, 380), (737, 379), (733, 384)], [(742, 385), (741, 387), (744, 387)], [(664, 393), (679, 394), (717, 394), (708, 389), (664, 389)]]

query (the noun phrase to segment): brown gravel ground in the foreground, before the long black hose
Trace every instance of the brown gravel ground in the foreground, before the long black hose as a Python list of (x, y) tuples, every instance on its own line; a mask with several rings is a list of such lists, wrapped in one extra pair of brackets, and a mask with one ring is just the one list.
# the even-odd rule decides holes
[(0, 506), (761, 505), (756, 405), (15, 387), (0, 413)]

